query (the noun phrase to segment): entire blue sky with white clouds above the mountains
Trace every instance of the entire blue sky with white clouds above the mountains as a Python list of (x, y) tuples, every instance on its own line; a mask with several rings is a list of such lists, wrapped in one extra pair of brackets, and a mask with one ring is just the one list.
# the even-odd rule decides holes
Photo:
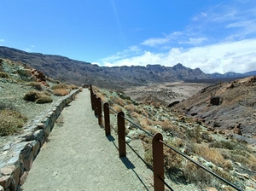
[(99, 66), (256, 70), (255, 0), (0, 0), (0, 45)]

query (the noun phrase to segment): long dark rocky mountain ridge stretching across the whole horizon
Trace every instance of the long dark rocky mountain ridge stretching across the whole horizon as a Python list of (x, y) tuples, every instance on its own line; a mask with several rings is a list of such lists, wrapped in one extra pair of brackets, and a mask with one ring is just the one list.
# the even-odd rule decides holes
[[(146, 67), (99, 67), (89, 62), (75, 61), (61, 55), (43, 55), (28, 53), (19, 49), (0, 46), (0, 58), (20, 61), (29, 67), (44, 72), (50, 78), (60, 79), (71, 84), (94, 84), (99, 87), (122, 89), (127, 86), (172, 82), (180, 80), (212, 80), (214, 78), (244, 78), (256, 75), (256, 71), (247, 73), (227, 72), (225, 74), (207, 74), (200, 68), (191, 69), (177, 64), (174, 67), (150, 65)], [(213, 80), (214, 81), (214, 80)]]

